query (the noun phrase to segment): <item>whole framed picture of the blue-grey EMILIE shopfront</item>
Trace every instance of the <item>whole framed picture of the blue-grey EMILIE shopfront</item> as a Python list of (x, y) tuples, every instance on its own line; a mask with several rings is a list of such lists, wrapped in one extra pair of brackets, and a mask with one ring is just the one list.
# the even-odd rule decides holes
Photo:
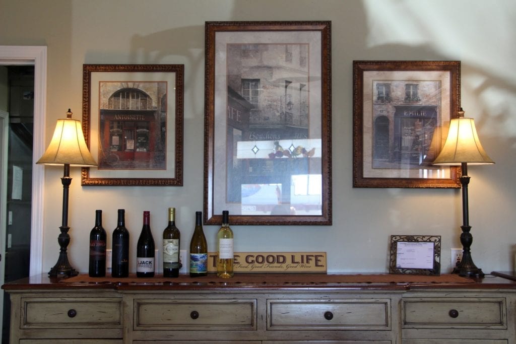
[(353, 61), (353, 186), (459, 188), (433, 166), (460, 108), (460, 61)]

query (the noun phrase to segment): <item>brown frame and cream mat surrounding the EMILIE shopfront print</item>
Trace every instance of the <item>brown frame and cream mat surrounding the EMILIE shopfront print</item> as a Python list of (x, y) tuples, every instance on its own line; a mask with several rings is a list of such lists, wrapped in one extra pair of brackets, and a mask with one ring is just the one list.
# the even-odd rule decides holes
[[(373, 84), (378, 83), (378, 80), (390, 80), (389, 83), (403, 81), (412, 81), (415, 84), (426, 81), (440, 83), (441, 88), (434, 91), (436, 103), (439, 102), (439, 105), (430, 106), (434, 109), (434, 113), (438, 114), (435, 127), (443, 128), (438, 132), (441, 134), (439, 136), (441, 142), (437, 140), (435, 143), (432, 142), (433, 158), (437, 157), (446, 140), (444, 134), (447, 132), (449, 119), (457, 117), (460, 108), (460, 61), (353, 61), (353, 187), (460, 188), (460, 167), (445, 167), (445, 169), (432, 167), (431, 160), (426, 161), (430, 157), (426, 156), (427, 151), (424, 150), (420, 153), (425, 159), (417, 168), (413, 165), (408, 168), (389, 166), (389, 163), (392, 164), (390, 160), (385, 167), (373, 166), (374, 161), (380, 161), (375, 160), (375, 109), (376, 111), (380, 109), (382, 106), (380, 103), (392, 102), (391, 94), (380, 97), (378, 90), (375, 93)], [(398, 91), (399, 93), (401, 92)], [(401, 103), (393, 104), (393, 107), (396, 111), (403, 106), (424, 108), (428, 104), (421, 104), (423, 101), (418, 96), (409, 97)], [(392, 114), (392, 116), (399, 115)], [(385, 117), (388, 118), (388, 116)], [(443, 119), (443, 117), (446, 118)], [(390, 135), (391, 130), (394, 133), (394, 124), (390, 123), (389, 130), (389, 159), (395, 159), (393, 153), (396, 150), (395, 135)], [(394, 163), (398, 166), (407, 166), (401, 160), (396, 160)], [(436, 174), (440, 173), (436, 172), (438, 169), (449, 173), (436, 177)]]

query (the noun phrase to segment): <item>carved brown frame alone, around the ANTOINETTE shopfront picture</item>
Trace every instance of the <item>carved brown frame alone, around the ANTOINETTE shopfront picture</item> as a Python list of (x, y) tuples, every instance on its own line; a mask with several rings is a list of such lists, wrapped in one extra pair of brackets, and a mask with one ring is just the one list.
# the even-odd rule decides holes
[[(91, 137), (92, 121), (99, 121), (99, 113), (92, 113), (92, 99), (98, 100), (98, 94), (92, 94), (92, 73), (116, 73), (117, 79), (112, 81), (125, 81), (124, 76), (127, 73), (138, 73), (135, 76), (149, 76), (155, 81), (156, 73), (173, 73), (175, 84), (169, 85), (169, 90), (174, 90), (175, 104), (173, 109), (175, 113), (169, 113), (168, 119), (174, 120), (174, 162), (173, 166), (167, 167), (165, 171), (156, 170), (146, 174), (139, 175), (138, 172), (124, 170), (128, 177), (119, 177), (115, 172), (114, 176), (94, 176), (91, 168), (83, 168), (81, 173), (81, 184), (88, 186), (183, 186), (183, 88), (184, 88), (184, 65), (183, 64), (84, 64), (83, 65), (83, 131), (86, 143), (91, 150), (92, 140), (98, 140), (97, 137)], [(118, 73), (120, 76), (118, 77)], [(112, 74), (109, 74), (112, 75)], [(127, 80), (135, 81), (131, 78)], [(110, 80), (108, 80), (110, 81)], [(138, 80), (140, 81), (140, 80)], [(144, 80), (141, 80), (144, 81)], [(169, 106), (170, 107), (170, 106)], [(167, 111), (168, 113), (169, 111)], [(95, 133), (95, 135), (97, 135)], [(167, 139), (169, 134), (167, 133)], [(94, 152), (92, 152), (93, 154)], [(95, 155), (94, 155), (95, 156)], [(173, 177), (167, 177), (167, 173), (173, 171)], [(131, 176), (134, 174), (134, 177)], [(147, 176), (149, 175), (149, 176)]]

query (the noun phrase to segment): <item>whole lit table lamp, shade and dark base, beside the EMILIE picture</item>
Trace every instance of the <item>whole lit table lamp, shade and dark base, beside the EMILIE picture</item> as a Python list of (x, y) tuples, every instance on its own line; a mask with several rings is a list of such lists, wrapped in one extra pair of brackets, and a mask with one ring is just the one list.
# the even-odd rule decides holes
[(459, 117), (450, 121), (448, 137), (444, 143), (441, 153), (439, 153), (433, 165), (451, 165), (461, 166), (462, 174), (460, 176), (460, 184), (462, 187), (462, 234), (460, 242), (462, 243), (462, 259), (453, 273), (467, 277), (482, 277), (482, 269), (479, 269), (473, 263), (471, 257), (471, 244), (473, 236), (470, 233), (471, 226), (468, 215), (467, 205), (467, 185), (470, 183), (470, 177), (467, 175), (467, 165), (487, 165), (494, 163), (486, 154), (478, 139), (475, 122), (472, 118), (464, 118), (464, 111), (460, 108)]

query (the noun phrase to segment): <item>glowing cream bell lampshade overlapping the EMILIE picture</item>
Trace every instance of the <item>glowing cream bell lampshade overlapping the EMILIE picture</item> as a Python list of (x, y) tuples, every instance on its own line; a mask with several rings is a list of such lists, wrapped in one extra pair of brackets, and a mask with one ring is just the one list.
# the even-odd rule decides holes
[(433, 165), (461, 165), (462, 162), (468, 165), (494, 163), (480, 144), (472, 118), (459, 117), (450, 121), (448, 137)]

